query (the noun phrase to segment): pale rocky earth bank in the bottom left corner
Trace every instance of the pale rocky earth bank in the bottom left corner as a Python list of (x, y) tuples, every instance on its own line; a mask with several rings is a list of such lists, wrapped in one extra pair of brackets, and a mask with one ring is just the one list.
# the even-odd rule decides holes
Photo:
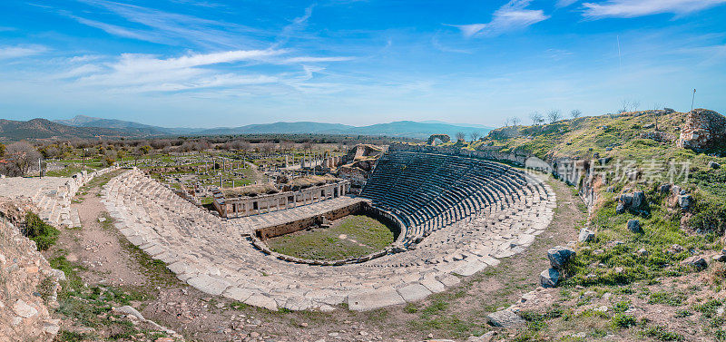
[(35, 243), (0, 219), (0, 341), (52, 341), (59, 329), (56, 306), (63, 272), (51, 269)]

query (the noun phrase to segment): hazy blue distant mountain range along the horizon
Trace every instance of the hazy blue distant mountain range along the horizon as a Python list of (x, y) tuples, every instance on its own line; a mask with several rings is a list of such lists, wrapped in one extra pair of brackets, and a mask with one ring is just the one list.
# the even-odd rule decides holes
[(389, 137), (426, 139), (431, 134), (448, 134), (455, 139), (456, 132), (471, 132), (485, 135), (491, 127), (482, 125), (452, 124), (447, 122), (400, 121), (378, 123), (369, 126), (351, 126), (325, 122), (274, 122), (249, 124), (240, 127), (219, 128), (167, 128), (139, 122), (94, 118), (77, 115), (73, 119), (34, 119), (27, 122), (0, 120), (0, 141), (49, 138), (144, 138), (156, 136), (211, 136), (242, 134), (343, 134), (343, 135), (385, 135)]

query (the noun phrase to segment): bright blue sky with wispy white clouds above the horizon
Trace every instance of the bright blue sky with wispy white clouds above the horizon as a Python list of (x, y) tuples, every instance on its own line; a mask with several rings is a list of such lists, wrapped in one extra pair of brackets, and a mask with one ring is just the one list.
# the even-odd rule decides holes
[(501, 125), (726, 113), (726, 0), (0, 2), (0, 118)]

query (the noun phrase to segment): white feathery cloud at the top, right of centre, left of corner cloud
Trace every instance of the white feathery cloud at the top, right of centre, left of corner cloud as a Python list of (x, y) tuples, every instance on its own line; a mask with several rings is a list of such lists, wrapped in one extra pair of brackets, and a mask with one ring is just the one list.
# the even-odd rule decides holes
[(511, 0), (499, 7), (487, 24), (461, 24), (456, 26), (461, 33), (470, 38), (476, 35), (495, 36), (524, 29), (532, 24), (546, 20), (542, 10), (527, 9), (532, 0)]

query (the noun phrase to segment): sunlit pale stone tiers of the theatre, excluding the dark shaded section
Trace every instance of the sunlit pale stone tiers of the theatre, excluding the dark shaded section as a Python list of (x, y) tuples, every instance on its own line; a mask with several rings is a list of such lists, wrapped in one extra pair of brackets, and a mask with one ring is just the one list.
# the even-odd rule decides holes
[(340, 266), (276, 259), (255, 249), (245, 235), (257, 222), (295, 218), (315, 207), (298, 208), (294, 215), (276, 211), (274, 217), (255, 217), (257, 222), (223, 220), (136, 170), (109, 181), (102, 192), (117, 229), (201, 291), (269, 309), (330, 311), (346, 303), (367, 310), (441, 292), (460, 281), (455, 274), (472, 275), (525, 250), (552, 220), (556, 205), (551, 188), (527, 177), (525, 183), (496, 179), (494, 184), (502, 185), (490, 190), (496, 197), (488, 204), (468, 207), (457, 220), (446, 221), (451, 223), (412, 231), (411, 237), (425, 237), (407, 251)]

